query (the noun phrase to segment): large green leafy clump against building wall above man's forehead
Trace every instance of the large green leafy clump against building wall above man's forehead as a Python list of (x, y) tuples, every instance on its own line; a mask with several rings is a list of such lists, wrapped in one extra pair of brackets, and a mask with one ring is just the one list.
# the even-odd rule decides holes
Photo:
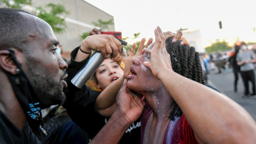
[(55, 33), (63, 33), (67, 28), (67, 25), (65, 18), (61, 18), (58, 15), (69, 14), (69, 12), (60, 4), (49, 3), (46, 7), (51, 9), (50, 12), (46, 12), (41, 6), (36, 8), (36, 11), (39, 11), (39, 13), (36, 14), (37, 17), (48, 22)]

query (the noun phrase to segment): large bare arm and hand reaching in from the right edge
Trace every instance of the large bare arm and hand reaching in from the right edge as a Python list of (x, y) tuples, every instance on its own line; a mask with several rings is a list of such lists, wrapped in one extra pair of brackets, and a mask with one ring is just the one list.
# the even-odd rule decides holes
[[(165, 49), (161, 29), (155, 30), (151, 68), (191, 125), (198, 141), (205, 143), (254, 143), (256, 124), (249, 113), (235, 101), (209, 87), (174, 73)], [(181, 90), (183, 87), (183, 90)]]

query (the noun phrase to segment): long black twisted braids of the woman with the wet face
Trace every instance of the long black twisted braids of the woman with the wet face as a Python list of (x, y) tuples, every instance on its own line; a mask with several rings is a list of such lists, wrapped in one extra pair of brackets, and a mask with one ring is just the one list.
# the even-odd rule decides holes
[[(172, 43), (171, 37), (166, 39), (165, 47), (170, 54), (172, 69), (175, 73), (198, 83), (205, 84), (201, 60), (199, 53), (195, 51), (195, 47), (190, 47), (188, 44), (180, 45), (180, 41)], [(172, 111), (169, 115), (169, 119), (174, 121), (175, 116), (181, 117), (182, 111), (177, 103), (172, 100)]]

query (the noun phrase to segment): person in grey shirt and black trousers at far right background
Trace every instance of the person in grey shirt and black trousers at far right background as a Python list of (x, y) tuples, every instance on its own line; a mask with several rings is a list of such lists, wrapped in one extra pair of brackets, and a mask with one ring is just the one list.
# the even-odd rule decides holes
[[(253, 98), (255, 92), (255, 77), (254, 77), (254, 66), (255, 55), (251, 50), (247, 49), (247, 45), (241, 43), (241, 51), (237, 54), (237, 65), (240, 66), (241, 76), (244, 82), (244, 95), (243, 98)], [(252, 83), (253, 93), (249, 93), (249, 81)]]

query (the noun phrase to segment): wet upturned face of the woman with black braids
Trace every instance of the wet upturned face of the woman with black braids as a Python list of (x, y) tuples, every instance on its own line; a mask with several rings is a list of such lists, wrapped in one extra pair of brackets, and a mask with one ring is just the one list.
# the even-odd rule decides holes
[[(152, 49), (154, 44), (148, 46)], [(143, 65), (143, 62), (150, 60), (150, 55), (145, 52), (138, 58), (132, 60), (133, 66), (130, 70), (132, 75), (127, 76), (127, 88), (143, 95), (145, 92), (156, 92), (161, 82), (153, 75), (152, 71)]]

